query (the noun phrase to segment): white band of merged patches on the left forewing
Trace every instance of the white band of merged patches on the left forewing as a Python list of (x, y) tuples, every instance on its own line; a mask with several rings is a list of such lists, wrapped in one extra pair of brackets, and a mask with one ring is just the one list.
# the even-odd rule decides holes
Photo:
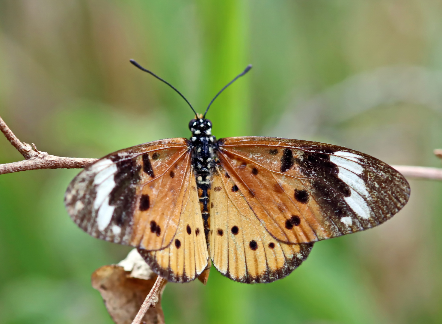
[(115, 187), (114, 174), (117, 172), (117, 165), (106, 158), (94, 164), (91, 170), (98, 172), (94, 177), (94, 185), (98, 185), (95, 189), (94, 209), (98, 210), (98, 229), (103, 231), (109, 225), (115, 209), (115, 206), (109, 205), (109, 194)]

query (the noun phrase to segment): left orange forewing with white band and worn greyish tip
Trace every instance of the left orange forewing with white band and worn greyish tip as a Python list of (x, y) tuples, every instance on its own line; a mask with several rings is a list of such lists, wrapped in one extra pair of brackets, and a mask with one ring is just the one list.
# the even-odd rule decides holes
[(72, 180), (65, 194), (66, 208), (92, 236), (151, 250), (164, 248), (178, 226), (183, 183), (190, 177), (189, 157), (186, 139), (160, 140), (109, 154)]

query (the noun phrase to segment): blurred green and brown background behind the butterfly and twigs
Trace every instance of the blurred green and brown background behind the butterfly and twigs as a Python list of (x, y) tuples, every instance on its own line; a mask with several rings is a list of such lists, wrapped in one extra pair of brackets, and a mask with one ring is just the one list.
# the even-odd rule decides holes
[[(188, 137), (272, 135), (441, 166), (442, 1), (0, 0), (0, 116), (50, 154), (99, 158)], [(20, 160), (0, 136), (0, 163)], [(0, 323), (112, 323), (90, 275), (128, 247), (89, 237), (63, 194), (79, 170), (0, 176)], [(166, 323), (441, 323), (442, 184), (392, 220), (317, 243), (289, 277), (168, 284)]]

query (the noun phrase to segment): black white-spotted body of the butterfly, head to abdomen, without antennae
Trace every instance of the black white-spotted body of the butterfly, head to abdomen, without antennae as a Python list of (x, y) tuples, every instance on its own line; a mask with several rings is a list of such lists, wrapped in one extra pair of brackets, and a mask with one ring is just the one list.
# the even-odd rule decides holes
[(192, 151), (192, 164), (195, 171), (198, 196), (201, 205), (204, 234), (209, 245), (210, 231), (210, 182), (212, 170), (216, 162), (216, 138), (212, 135), (212, 123), (207, 119), (193, 119), (189, 123), (192, 132), (190, 148)]

